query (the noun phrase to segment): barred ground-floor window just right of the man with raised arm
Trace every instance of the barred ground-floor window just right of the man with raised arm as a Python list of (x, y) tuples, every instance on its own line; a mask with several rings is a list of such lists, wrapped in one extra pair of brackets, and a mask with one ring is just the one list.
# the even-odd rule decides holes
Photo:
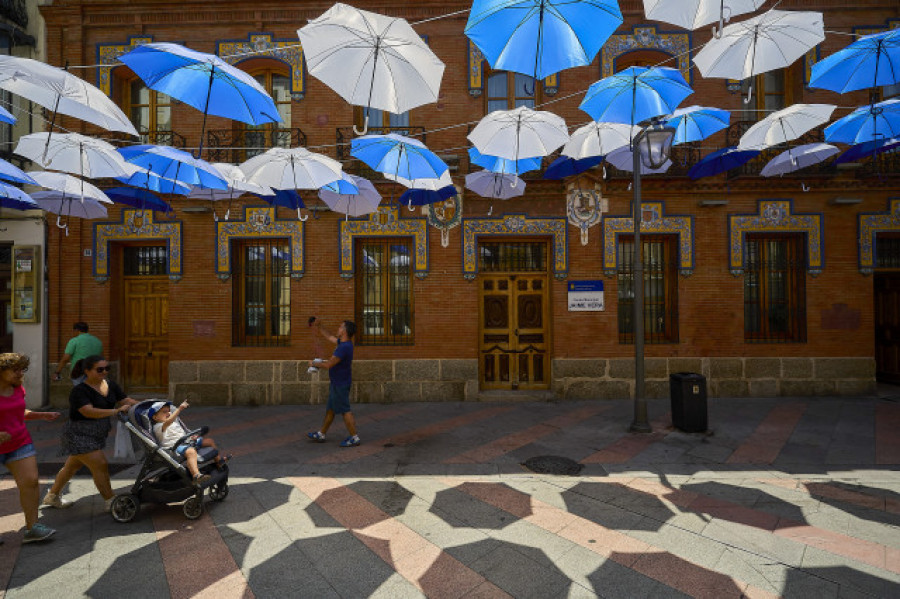
[(413, 293), (407, 238), (356, 241), (356, 325), (360, 345), (411, 345)]

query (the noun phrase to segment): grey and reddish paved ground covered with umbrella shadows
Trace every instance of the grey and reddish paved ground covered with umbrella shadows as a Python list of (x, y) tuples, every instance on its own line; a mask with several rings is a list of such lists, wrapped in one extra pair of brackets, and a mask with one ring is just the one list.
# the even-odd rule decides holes
[[(366, 404), (349, 449), (340, 422), (306, 440), (323, 406), (191, 407), (236, 456), (228, 497), (118, 524), (79, 476), (21, 546), (4, 474), (0, 599), (900, 597), (898, 399), (715, 399), (707, 434), (651, 401), (644, 435), (624, 400)], [(49, 483), (62, 425), (30, 424)]]

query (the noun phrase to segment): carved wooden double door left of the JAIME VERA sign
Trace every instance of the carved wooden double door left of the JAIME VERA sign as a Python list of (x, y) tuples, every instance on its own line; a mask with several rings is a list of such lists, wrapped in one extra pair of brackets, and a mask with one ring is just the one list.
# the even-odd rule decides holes
[(491, 274), (479, 281), (481, 388), (549, 388), (547, 275)]

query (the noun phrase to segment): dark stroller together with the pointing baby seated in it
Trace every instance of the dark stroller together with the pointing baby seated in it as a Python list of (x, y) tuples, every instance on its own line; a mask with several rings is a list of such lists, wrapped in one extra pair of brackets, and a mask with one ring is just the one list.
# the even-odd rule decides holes
[(228, 496), (228, 458), (219, 457), (215, 443), (206, 436), (208, 427), (188, 430), (179, 420), (186, 407), (183, 404), (173, 409), (169, 402), (151, 399), (119, 414), (119, 420), (145, 451), (134, 485), (116, 495), (110, 504), (117, 522), (134, 520), (141, 503), (147, 502), (183, 501), (184, 515), (195, 519), (203, 515), (206, 489), (213, 501)]

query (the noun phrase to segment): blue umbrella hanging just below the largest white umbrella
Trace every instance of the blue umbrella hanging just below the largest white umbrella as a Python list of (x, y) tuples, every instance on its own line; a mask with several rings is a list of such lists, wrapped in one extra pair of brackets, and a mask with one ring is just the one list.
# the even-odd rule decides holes
[(448, 170), (425, 144), (395, 133), (357, 137), (350, 142), (350, 154), (376, 171), (403, 179), (437, 179)]

